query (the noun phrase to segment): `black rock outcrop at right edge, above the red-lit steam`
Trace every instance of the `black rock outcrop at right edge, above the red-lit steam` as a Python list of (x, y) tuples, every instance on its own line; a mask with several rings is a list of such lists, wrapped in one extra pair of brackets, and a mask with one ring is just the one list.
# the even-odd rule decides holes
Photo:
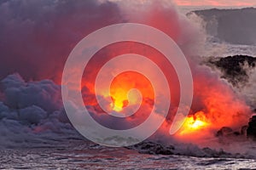
[(244, 66), (247, 64), (249, 68), (255, 68), (256, 58), (247, 55), (234, 55), (220, 59), (210, 59), (209, 63), (222, 71), (222, 77), (231, 82), (233, 86), (239, 86), (241, 83), (246, 83), (249, 78)]

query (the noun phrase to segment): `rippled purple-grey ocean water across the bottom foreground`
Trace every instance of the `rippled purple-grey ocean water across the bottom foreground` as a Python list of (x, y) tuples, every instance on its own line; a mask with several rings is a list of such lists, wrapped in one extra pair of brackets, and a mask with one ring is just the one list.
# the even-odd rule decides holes
[(1, 169), (253, 169), (253, 159), (160, 156), (85, 141), (0, 150)]

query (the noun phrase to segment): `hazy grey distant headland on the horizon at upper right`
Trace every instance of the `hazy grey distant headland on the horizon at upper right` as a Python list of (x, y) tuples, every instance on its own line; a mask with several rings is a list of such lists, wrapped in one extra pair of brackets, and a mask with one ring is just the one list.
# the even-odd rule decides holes
[(189, 14), (192, 13), (200, 16), (206, 23), (207, 33), (219, 40), (233, 44), (256, 44), (256, 8), (212, 8)]

